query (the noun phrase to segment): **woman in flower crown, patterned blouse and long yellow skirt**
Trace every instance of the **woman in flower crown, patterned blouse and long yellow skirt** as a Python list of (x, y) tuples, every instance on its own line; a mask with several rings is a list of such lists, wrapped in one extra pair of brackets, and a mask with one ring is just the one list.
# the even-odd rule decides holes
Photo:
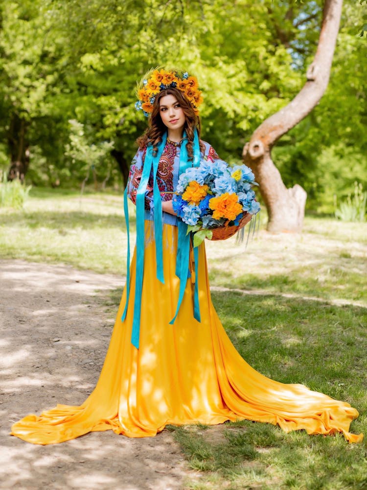
[(138, 97), (137, 108), (151, 117), (125, 191), (125, 216), (127, 195), (137, 205), (137, 245), (100, 378), (81, 406), (57, 405), (40, 417), (24, 417), (12, 434), (50, 444), (90, 431), (147, 437), (166, 424), (250, 419), (361, 441), (362, 435), (348, 432), (358, 416), (354, 408), (255, 371), (214, 310), (205, 245), (193, 250), (185, 242), (172, 199), (187, 167), (219, 159), (199, 139), (196, 78), (151, 71)]

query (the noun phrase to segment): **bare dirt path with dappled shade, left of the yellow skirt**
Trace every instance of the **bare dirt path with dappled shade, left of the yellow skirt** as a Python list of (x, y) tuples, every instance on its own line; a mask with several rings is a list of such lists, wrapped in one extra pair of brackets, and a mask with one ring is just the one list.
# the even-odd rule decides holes
[(115, 321), (104, 301), (123, 283), (69, 266), (0, 261), (1, 489), (173, 490), (199, 478), (167, 431), (145, 439), (94, 432), (49, 446), (8, 435), (24, 415), (79, 405), (92, 391)]

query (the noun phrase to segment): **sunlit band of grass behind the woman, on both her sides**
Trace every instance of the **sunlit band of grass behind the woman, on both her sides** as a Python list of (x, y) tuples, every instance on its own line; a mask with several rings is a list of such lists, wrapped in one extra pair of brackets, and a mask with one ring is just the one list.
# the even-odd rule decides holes
[[(135, 210), (131, 244), (135, 243)], [(255, 238), (206, 241), (212, 286), (292, 293), (367, 304), (367, 223), (306, 217), (302, 234), (265, 231)], [(0, 257), (64, 262), (81, 269), (126, 273), (122, 194), (37, 189), (23, 210), (0, 209)]]

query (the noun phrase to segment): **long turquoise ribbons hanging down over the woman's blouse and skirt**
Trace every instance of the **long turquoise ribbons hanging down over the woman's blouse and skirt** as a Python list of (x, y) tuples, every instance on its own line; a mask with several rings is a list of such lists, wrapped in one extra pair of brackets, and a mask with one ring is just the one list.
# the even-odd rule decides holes
[[(145, 195), (147, 185), (151, 173), (153, 174), (153, 204), (154, 204), (154, 234), (156, 242), (156, 274), (157, 278), (164, 284), (163, 274), (163, 245), (162, 245), (162, 202), (161, 192), (157, 182), (157, 172), (159, 161), (164, 150), (167, 140), (167, 133), (162, 136), (162, 141), (158, 145), (158, 151), (156, 156), (153, 156), (153, 146), (149, 145), (146, 150), (145, 160), (143, 164), (143, 171), (141, 174), (140, 183), (137, 190), (136, 208), (137, 208), (137, 245), (136, 245), (136, 282), (135, 282), (135, 299), (134, 299), (134, 317), (133, 328), (131, 335), (131, 343), (138, 349), (139, 348), (139, 333), (140, 333), (140, 311), (141, 311), (141, 294), (143, 285), (144, 274), (144, 249), (145, 249)], [(187, 135), (184, 132), (183, 142), (187, 140)], [(198, 167), (200, 164), (200, 147), (199, 137), (196, 129), (194, 130), (193, 141), (193, 161), (188, 162), (188, 155), (186, 150), (186, 144), (181, 145), (180, 153), (180, 167), (179, 174), (186, 171), (191, 165)], [(130, 296), (130, 230), (129, 230), (129, 210), (128, 210), (128, 187), (126, 186), (124, 192), (124, 213), (126, 221), (126, 231), (128, 238), (127, 247), (127, 277), (126, 277), (126, 304), (122, 314), (122, 321), (126, 318), (126, 312)], [(173, 324), (184, 297), (184, 291), (187, 282), (187, 275), (189, 273), (189, 255), (190, 255), (190, 240), (191, 234), (187, 234), (187, 224), (183, 221), (178, 221), (178, 246), (176, 256), (176, 275), (180, 278), (180, 291), (177, 309), (174, 318), (170, 321)], [(198, 248), (194, 248), (194, 261), (195, 261), (195, 291), (194, 291), (194, 318), (200, 321), (200, 308), (199, 308), (199, 289), (198, 289)]]

